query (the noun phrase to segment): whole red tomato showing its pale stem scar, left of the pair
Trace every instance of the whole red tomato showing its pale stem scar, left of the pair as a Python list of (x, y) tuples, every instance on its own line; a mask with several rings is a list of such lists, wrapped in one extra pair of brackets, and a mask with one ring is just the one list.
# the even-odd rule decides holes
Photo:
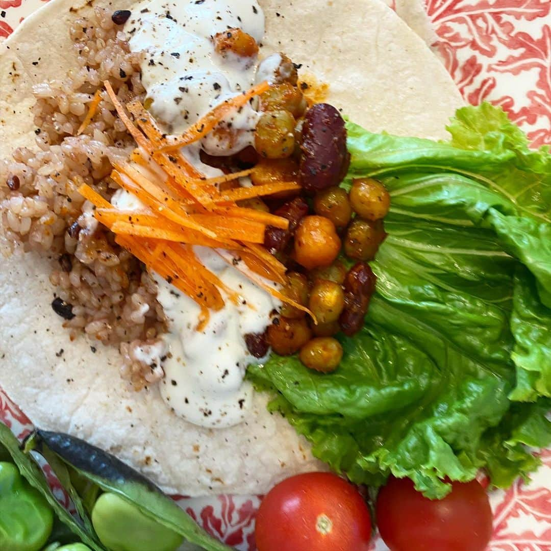
[[(331, 531), (316, 530), (319, 515)], [(367, 551), (371, 516), (356, 488), (332, 473), (304, 473), (274, 486), (256, 517), (258, 551)]]

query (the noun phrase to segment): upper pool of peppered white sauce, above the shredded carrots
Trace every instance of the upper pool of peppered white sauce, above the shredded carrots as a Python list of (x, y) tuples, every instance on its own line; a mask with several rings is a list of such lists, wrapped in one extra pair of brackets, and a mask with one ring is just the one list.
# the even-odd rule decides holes
[[(212, 36), (233, 27), (262, 39), (264, 14), (256, 0), (153, 0), (127, 21), (131, 50), (145, 52), (142, 83), (153, 100), (150, 111), (168, 133), (181, 133), (255, 82), (255, 58), (214, 50)], [(203, 149), (211, 155), (237, 153), (252, 143), (257, 120), (257, 112), (245, 105), (219, 124), (233, 132), (210, 133)]]

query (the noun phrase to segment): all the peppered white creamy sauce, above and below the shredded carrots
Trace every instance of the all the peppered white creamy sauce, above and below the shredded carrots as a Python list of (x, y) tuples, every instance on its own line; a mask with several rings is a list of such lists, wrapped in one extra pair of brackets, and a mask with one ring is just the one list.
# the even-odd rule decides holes
[[(264, 63), (257, 74), (256, 59), (215, 52), (211, 37), (233, 27), (261, 41), (264, 14), (256, 0), (153, 0), (132, 12), (125, 32), (131, 50), (144, 52), (141, 70), (148, 108), (167, 133), (183, 132), (214, 106), (250, 88), (259, 77), (269, 80), (276, 71), (277, 60)], [(210, 134), (201, 143), (183, 148), (182, 154), (206, 176), (221, 175), (199, 160), (199, 149), (212, 155), (236, 153), (253, 142), (257, 120), (257, 112), (247, 104), (221, 123), (230, 132)], [(143, 207), (123, 190), (111, 202), (121, 209)], [(244, 335), (264, 332), (281, 302), (215, 251), (193, 250), (199, 261), (237, 292), (239, 300), (234, 304), (220, 289), (224, 308), (211, 311), (207, 326), (197, 331), (198, 305), (152, 274), (169, 333), (161, 347), (143, 347), (140, 357), (162, 366), (165, 377), (160, 392), (177, 415), (201, 426), (231, 426), (244, 420), (251, 407), (252, 388), (243, 381), (246, 367), (262, 361), (249, 354)]]

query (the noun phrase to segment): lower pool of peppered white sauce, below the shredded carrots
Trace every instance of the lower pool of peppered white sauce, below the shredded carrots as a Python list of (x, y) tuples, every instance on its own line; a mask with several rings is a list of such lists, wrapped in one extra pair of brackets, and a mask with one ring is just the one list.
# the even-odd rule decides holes
[[(231, 426), (245, 419), (252, 387), (243, 382), (247, 365), (262, 361), (249, 354), (244, 335), (262, 333), (281, 303), (205, 247), (193, 248), (199, 261), (239, 294), (234, 304), (220, 290), (225, 306), (210, 311), (207, 325), (197, 331), (199, 306), (154, 274), (157, 300), (171, 327), (166, 342), (170, 355), (163, 363), (161, 395), (174, 412), (203, 426)], [(267, 284), (272, 284), (266, 280)]]

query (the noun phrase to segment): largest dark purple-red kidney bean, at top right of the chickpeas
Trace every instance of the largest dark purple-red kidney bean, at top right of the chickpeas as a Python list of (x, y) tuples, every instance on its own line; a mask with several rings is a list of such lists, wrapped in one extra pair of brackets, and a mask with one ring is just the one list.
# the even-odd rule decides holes
[(306, 111), (300, 148), (300, 182), (307, 191), (325, 190), (341, 181), (346, 128), (332, 105), (316, 104)]

